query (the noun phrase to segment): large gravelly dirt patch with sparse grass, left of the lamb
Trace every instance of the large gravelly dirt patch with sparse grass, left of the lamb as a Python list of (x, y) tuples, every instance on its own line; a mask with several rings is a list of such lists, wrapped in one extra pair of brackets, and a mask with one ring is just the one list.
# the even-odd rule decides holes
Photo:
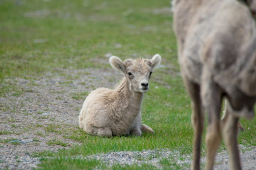
[(112, 88), (122, 77), (114, 69), (60, 72), (1, 84), (17, 86), (18, 91), (0, 97), (0, 169), (32, 169), (38, 164), (37, 158), (28, 159), (33, 152), (77, 145), (65, 136), (78, 130), (86, 95), (100, 86)]

